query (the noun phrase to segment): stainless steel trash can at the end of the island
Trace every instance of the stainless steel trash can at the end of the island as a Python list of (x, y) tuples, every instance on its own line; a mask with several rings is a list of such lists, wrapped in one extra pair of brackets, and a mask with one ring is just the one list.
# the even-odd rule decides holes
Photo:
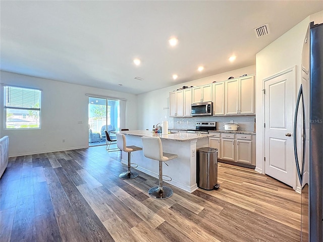
[(205, 190), (218, 189), (218, 149), (203, 147), (197, 150), (197, 187)]

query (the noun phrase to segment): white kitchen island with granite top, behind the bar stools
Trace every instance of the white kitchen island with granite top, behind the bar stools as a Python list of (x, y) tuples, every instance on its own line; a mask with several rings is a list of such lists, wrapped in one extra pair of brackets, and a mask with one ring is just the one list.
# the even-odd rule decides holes
[[(194, 192), (196, 185), (196, 156), (197, 150), (202, 147), (208, 147), (208, 137), (213, 135), (176, 133), (176, 134), (154, 134), (151, 131), (135, 130), (122, 131), (126, 135), (127, 146), (135, 145), (142, 147), (141, 137), (156, 136), (161, 139), (163, 150), (166, 153), (177, 154), (176, 159), (163, 164), (163, 174), (172, 177), (167, 183), (183, 189), (187, 192)], [(131, 153), (131, 162), (138, 164), (136, 169), (158, 178), (159, 165), (158, 161), (146, 158), (143, 151)], [(122, 163), (128, 164), (128, 155), (122, 152)]]

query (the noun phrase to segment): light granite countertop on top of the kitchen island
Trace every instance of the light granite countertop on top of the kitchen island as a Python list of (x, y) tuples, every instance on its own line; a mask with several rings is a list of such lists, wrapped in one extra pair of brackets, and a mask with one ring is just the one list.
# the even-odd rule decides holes
[(176, 133), (176, 134), (155, 134), (147, 130), (132, 130), (132, 131), (121, 131), (120, 133), (124, 135), (133, 135), (133, 136), (147, 136), (147, 137), (159, 137), (161, 140), (171, 140), (171, 141), (190, 141), (197, 139), (204, 139), (212, 137), (213, 135), (204, 135), (204, 134), (191, 134), (191, 133)]

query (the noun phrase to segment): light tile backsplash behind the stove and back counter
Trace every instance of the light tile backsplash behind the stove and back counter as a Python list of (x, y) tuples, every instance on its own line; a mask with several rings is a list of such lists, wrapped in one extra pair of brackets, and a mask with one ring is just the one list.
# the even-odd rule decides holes
[(217, 130), (224, 130), (224, 124), (233, 120), (239, 125), (238, 131), (255, 132), (255, 117), (255, 115), (174, 117), (174, 127), (169, 129), (195, 129), (196, 122), (217, 122)]

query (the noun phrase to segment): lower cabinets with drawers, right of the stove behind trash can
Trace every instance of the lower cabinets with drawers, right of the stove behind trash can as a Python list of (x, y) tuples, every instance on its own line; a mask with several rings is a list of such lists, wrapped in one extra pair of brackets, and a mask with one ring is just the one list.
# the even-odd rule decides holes
[(216, 133), (209, 138), (209, 147), (218, 149), (218, 159), (245, 164), (256, 164), (255, 135)]

